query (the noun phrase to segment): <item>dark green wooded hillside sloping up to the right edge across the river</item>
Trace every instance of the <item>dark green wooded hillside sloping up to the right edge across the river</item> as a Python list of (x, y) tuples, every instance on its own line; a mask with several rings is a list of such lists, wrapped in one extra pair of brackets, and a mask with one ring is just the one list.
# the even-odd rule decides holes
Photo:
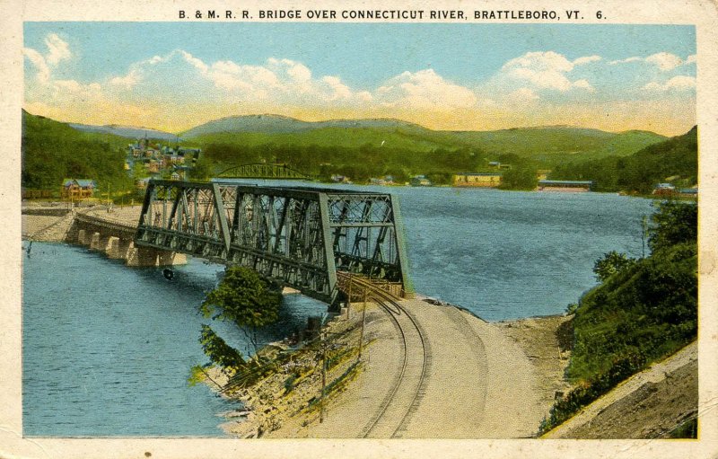
[(686, 134), (646, 146), (634, 154), (563, 163), (551, 179), (591, 180), (599, 191), (650, 193), (656, 183), (671, 181), (679, 188), (696, 185), (698, 173), (697, 128)]

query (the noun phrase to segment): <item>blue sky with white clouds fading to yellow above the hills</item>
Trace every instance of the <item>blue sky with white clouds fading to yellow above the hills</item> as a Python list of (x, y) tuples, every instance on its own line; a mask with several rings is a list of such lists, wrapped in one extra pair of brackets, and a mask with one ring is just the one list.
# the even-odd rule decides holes
[(25, 22), (25, 110), (181, 132), (272, 113), (426, 128), (696, 124), (686, 25)]

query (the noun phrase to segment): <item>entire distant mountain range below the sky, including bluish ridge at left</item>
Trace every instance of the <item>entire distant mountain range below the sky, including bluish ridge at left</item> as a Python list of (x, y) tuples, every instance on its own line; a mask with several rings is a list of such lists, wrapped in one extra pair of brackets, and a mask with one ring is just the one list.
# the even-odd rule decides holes
[[(648, 131), (606, 132), (593, 128), (547, 126), (510, 128), (495, 131), (442, 131), (424, 128), (400, 119), (329, 119), (302, 121), (281, 115), (243, 115), (215, 119), (179, 134), (152, 128), (70, 123), (83, 132), (112, 134), (118, 137), (149, 137), (164, 141), (193, 140), (200, 144), (231, 142), (242, 139), (247, 145), (263, 143), (361, 146), (381, 145), (419, 149), (478, 146), (496, 154), (534, 157), (555, 154), (582, 154), (591, 158), (632, 154), (666, 137)], [(179, 137), (178, 137), (179, 136)]]

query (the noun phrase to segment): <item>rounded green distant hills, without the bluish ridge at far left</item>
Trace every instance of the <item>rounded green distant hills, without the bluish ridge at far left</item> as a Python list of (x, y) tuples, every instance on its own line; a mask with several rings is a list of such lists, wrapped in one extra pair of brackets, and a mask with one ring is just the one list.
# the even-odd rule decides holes
[(666, 138), (645, 131), (610, 133), (570, 127), (436, 131), (392, 119), (306, 123), (267, 115), (261, 115), (260, 118), (222, 119), (190, 129), (182, 136), (188, 137), (188, 134), (193, 142), (200, 145), (223, 144), (242, 148), (372, 146), (424, 153), (437, 149), (451, 151), (470, 148), (485, 152), (486, 163), (528, 162), (535, 167), (548, 169), (566, 161), (582, 162), (610, 155), (633, 154)]

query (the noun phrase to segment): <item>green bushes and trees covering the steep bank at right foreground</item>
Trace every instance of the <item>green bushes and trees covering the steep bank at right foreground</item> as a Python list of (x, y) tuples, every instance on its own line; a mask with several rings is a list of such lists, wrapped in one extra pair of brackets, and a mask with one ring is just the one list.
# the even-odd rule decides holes
[(648, 233), (650, 256), (608, 253), (594, 269), (601, 284), (570, 306), (574, 349), (566, 375), (574, 389), (556, 402), (542, 431), (696, 339), (696, 203), (659, 203)]

